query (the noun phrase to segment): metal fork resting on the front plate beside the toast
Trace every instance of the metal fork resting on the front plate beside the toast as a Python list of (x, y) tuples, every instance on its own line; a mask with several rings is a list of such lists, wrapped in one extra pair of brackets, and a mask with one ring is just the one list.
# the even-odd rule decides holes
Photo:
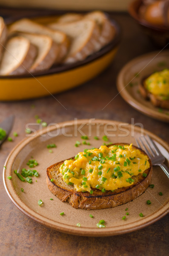
[[(143, 141), (143, 138), (145, 142)], [(149, 139), (149, 141), (147, 140)], [(149, 158), (152, 161), (153, 166), (160, 166), (163, 172), (167, 175), (169, 178), (169, 168), (163, 163), (166, 158), (161, 154), (158, 147), (155, 145), (154, 141), (149, 137), (149, 135), (146, 135), (146, 137), (139, 137), (139, 140), (136, 139), (137, 145), (139, 148), (141, 148), (140, 143), (143, 145), (144, 150), (148, 154)], [(151, 145), (150, 145), (150, 143)], [(150, 153), (151, 152), (151, 153)]]

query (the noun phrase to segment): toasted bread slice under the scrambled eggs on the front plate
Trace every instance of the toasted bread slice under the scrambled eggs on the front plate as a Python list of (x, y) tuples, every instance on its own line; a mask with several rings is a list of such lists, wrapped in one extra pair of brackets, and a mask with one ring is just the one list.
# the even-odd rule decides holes
[[(120, 143), (120, 145), (126, 144)], [(133, 147), (137, 148), (135, 146)], [(139, 150), (142, 154), (146, 155), (146, 153), (140, 148)], [(72, 185), (68, 185), (63, 181), (62, 174), (59, 170), (63, 162), (64, 161), (55, 163), (47, 168), (46, 182), (49, 190), (57, 198), (63, 202), (68, 201), (69, 204), (76, 209), (106, 209), (126, 204), (143, 194), (149, 186), (152, 178), (152, 163), (149, 159), (150, 167), (144, 171), (144, 173), (147, 174), (146, 177), (143, 177), (142, 174), (133, 176), (132, 179), (134, 179), (135, 182), (131, 186), (116, 189), (114, 192), (106, 191), (105, 193), (102, 193), (99, 189), (92, 189), (94, 192), (90, 195), (89, 192), (77, 192)], [(54, 181), (51, 181), (51, 179), (54, 179)]]

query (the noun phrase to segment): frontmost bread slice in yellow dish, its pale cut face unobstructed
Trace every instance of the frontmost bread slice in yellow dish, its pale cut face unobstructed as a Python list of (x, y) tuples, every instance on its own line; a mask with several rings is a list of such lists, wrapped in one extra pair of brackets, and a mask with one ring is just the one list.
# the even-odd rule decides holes
[(28, 39), (22, 36), (10, 38), (0, 64), (0, 75), (29, 73), (36, 55), (37, 49)]

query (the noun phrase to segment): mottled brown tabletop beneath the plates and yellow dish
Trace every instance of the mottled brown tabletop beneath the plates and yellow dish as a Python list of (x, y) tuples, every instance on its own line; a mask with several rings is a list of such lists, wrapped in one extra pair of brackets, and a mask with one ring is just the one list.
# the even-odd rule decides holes
[[(0, 14), (4, 13), (1, 9)], [(16, 12), (13, 14), (16, 15)], [(19, 102), (0, 102), (0, 122), (6, 116), (14, 114), (15, 122), (11, 135), (13, 131), (19, 134), (13, 142), (6, 141), (0, 148), (1, 173), (9, 152), (25, 137), (26, 123), (34, 122), (36, 114), (48, 123), (71, 120), (74, 117), (131, 123), (131, 118), (134, 118), (135, 123), (141, 122), (145, 129), (153, 131), (169, 143), (168, 124), (137, 112), (120, 95), (117, 95), (102, 111), (102, 108), (117, 94), (116, 76), (123, 65), (135, 56), (157, 49), (129, 15), (124, 13), (110, 15), (120, 23), (123, 30), (120, 49), (111, 66), (100, 76), (80, 87), (55, 95), (67, 110), (52, 96)], [(31, 108), (32, 104), (34, 108)], [(169, 214), (148, 227), (120, 236), (103, 238), (72, 236), (43, 227), (20, 212), (10, 201), (1, 174), (0, 255), (135, 256), (136, 253), (137, 256), (169, 255)]]

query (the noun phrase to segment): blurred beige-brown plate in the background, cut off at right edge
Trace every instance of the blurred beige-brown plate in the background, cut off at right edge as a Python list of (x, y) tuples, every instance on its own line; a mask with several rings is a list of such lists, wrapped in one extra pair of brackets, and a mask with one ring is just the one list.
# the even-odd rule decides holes
[(151, 52), (134, 58), (118, 74), (117, 90), (133, 108), (152, 118), (169, 122), (169, 110), (155, 107), (149, 100), (144, 99), (138, 90), (142, 78), (165, 68), (169, 68), (169, 50)]

